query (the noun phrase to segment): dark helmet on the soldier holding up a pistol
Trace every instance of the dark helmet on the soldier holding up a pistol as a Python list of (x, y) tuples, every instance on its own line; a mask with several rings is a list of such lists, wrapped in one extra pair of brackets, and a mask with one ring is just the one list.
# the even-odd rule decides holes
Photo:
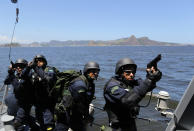
[(115, 68), (115, 74), (120, 74), (121, 72), (121, 69), (123, 66), (126, 66), (126, 65), (130, 65), (130, 66), (133, 66), (135, 71), (137, 69), (137, 65), (135, 64), (135, 62), (130, 59), (130, 58), (123, 58), (123, 59), (120, 59), (117, 64), (116, 64), (116, 68)]

